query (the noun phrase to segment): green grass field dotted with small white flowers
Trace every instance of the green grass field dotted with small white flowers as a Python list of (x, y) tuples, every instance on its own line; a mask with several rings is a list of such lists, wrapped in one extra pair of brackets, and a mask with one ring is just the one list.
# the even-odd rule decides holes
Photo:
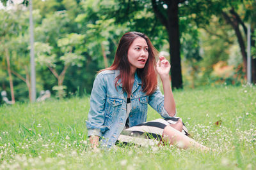
[[(256, 169), (255, 86), (176, 90), (174, 97), (193, 138), (216, 152), (176, 146), (92, 152), (85, 96), (0, 106), (0, 169)], [(149, 108), (148, 120), (159, 117)]]

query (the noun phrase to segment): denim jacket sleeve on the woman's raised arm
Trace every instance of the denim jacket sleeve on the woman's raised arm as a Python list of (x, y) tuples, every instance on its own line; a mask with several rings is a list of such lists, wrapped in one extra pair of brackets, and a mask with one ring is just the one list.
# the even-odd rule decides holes
[[(168, 112), (164, 109), (164, 96), (157, 87), (155, 92), (149, 96), (148, 104), (156, 110), (161, 117), (163, 118), (171, 118)], [(175, 114), (173, 117), (176, 117), (177, 110), (175, 110)]]

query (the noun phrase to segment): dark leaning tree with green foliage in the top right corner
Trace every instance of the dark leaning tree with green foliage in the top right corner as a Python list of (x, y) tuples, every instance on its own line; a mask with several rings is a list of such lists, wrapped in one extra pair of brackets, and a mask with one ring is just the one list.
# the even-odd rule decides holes
[[(246, 45), (245, 39), (247, 35), (247, 28), (245, 22), (250, 20), (252, 24), (252, 39), (253, 32), (256, 27), (256, 22), (253, 18), (256, 17), (256, 2), (253, 0), (236, 0), (236, 1), (206, 1), (197, 0), (189, 1), (188, 4), (182, 6), (182, 13), (190, 16), (191, 22), (194, 22), (198, 27), (205, 29), (205, 25), (209, 25), (212, 16), (219, 18), (219, 22), (225, 24), (225, 20), (228, 25), (231, 25), (234, 30), (237, 41), (240, 46), (241, 56), (243, 57), (244, 72), (247, 67), (246, 57)], [(188, 15), (189, 13), (189, 15)], [(243, 30), (243, 33), (241, 31)], [(216, 34), (216, 33), (215, 33)], [(243, 36), (243, 34), (245, 36)], [(252, 40), (252, 46), (255, 46), (255, 41)], [(256, 82), (256, 60), (252, 59), (252, 76), (253, 82)]]

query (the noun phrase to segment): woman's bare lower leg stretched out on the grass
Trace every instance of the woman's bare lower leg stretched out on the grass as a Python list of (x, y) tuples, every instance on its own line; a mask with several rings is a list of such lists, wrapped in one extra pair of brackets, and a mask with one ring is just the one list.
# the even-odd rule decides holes
[(194, 147), (194, 148), (200, 148), (200, 150), (202, 151), (210, 150), (206, 146), (201, 145), (200, 143), (197, 143), (194, 139), (189, 138), (188, 136), (182, 134), (182, 132), (177, 131), (171, 126), (166, 126), (164, 128), (163, 136), (164, 136), (163, 137), (164, 142), (169, 142), (170, 145), (175, 144), (180, 148)]

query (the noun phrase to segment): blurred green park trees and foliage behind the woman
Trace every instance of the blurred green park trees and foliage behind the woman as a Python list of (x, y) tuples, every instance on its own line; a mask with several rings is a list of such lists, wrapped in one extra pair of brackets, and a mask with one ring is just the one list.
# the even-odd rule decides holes
[[(248, 81), (248, 52), (256, 83), (255, 0), (30, 3), (38, 101), (49, 94), (90, 94), (97, 71), (111, 66), (127, 31), (147, 34), (170, 60), (173, 89), (243, 85)], [(29, 1), (0, 1), (0, 92), (6, 92), (1, 104), (32, 100), (29, 25)]]

